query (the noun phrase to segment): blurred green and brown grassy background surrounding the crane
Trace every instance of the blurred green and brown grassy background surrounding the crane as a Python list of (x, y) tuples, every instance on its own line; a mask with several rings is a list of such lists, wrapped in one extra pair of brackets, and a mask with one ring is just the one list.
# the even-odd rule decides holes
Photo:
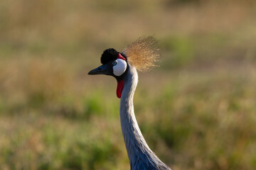
[(0, 1), (0, 169), (129, 169), (108, 47), (160, 40), (134, 107), (172, 169), (256, 169), (253, 0)]

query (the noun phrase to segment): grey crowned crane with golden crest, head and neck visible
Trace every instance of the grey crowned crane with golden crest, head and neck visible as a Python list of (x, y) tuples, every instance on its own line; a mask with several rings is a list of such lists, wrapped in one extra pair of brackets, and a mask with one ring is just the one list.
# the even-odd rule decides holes
[(171, 170), (151, 151), (142, 135), (134, 115), (134, 91), (138, 71), (148, 71), (159, 61), (158, 41), (154, 36), (143, 36), (117, 52), (109, 48), (102, 53), (102, 65), (88, 74), (105, 74), (117, 80), (117, 97), (120, 98), (119, 115), (124, 144), (131, 170)]

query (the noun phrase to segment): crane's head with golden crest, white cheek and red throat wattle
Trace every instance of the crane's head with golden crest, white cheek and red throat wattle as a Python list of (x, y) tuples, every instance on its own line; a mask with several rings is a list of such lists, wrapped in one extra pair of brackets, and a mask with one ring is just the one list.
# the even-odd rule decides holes
[(102, 65), (88, 74), (105, 74), (117, 79), (117, 97), (121, 98), (129, 64), (142, 72), (154, 67), (155, 62), (159, 60), (159, 48), (156, 44), (157, 41), (152, 36), (147, 36), (128, 45), (122, 52), (109, 48), (102, 53)]

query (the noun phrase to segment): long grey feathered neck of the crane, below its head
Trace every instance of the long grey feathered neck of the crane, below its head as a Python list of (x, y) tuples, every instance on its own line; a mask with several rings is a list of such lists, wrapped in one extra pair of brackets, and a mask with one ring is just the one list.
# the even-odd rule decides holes
[(138, 83), (137, 71), (129, 65), (124, 77), (120, 103), (120, 119), (124, 143), (132, 170), (171, 170), (149, 149), (134, 115), (133, 96)]

